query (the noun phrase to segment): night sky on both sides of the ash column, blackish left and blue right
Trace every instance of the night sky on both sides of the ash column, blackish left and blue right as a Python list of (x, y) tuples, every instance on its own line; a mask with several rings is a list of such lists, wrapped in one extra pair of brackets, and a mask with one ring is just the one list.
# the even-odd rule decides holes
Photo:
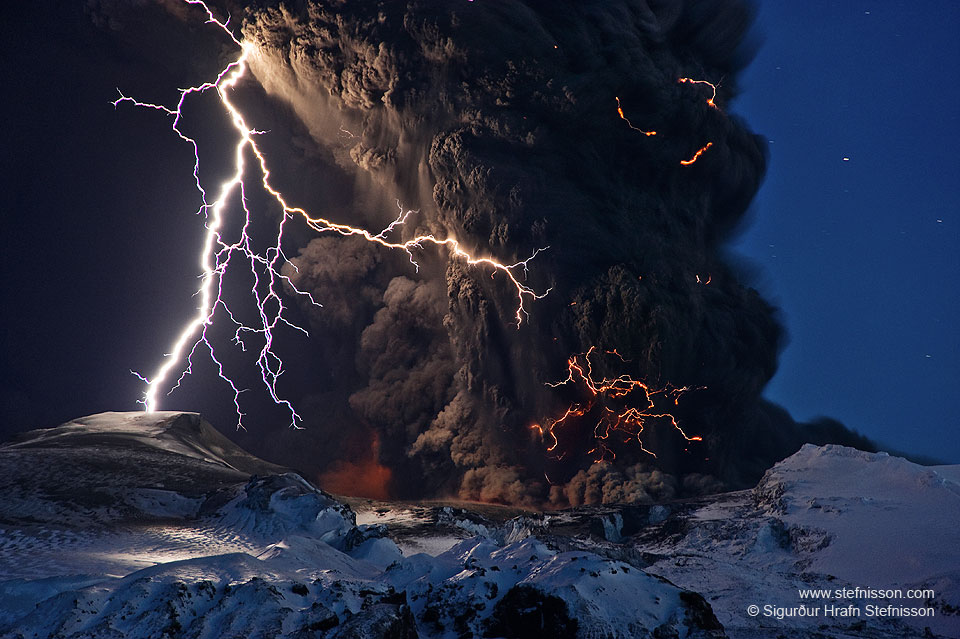
[[(173, 18), (145, 41), (151, 29), (114, 33), (80, 7), (17, 11), (0, 25), (5, 433), (136, 409), (129, 370), (152, 370), (190, 314), (191, 153), (166, 118), (110, 102), (120, 87), (170, 103), (222, 45)], [(948, 462), (960, 462), (958, 32), (951, 1), (763, 3), (731, 105), (770, 140), (731, 247), (791, 336), (767, 397)], [(164, 407), (228, 429), (223, 390), (201, 368)]]

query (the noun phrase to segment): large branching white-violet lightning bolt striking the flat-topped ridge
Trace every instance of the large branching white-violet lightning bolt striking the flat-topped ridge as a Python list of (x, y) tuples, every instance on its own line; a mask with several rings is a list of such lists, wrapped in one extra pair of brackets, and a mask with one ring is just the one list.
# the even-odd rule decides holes
[[(298, 428), (298, 422), (302, 418), (297, 413), (293, 404), (280, 396), (277, 391), (277, 381), (284, 373), (283, 360), (274, 351), (274, 332), (281, 326), (287, 326), (307, 334), (307, 331), (289, 321), (286, 318), (287, 307), (283, 303), (280, 295), (280, 287), (284, 284), (289, 286), (297, 295), (303, 296), (313, 305), (320, 304), (310, 295), (309, 292), (301, 291), (290, 280), (283, 275), (280, 269), (284, 264), (289, 264), (283, 253), (283, 232), (285, 224), (296, 217), (317, 231), (318, 233), (333, 232), (343, 236), (359, 236), (368, 242), (380, 244), (389, 249), (401, 249), (410, 257), (410, 262), (419, 270), (419, 265), (415, 259), (413, 251), (422, 249), (424, 245), (433, 245), (436, 247), (446, 247), (451, 257), (462, 259), (467, 264), (475, 266), (485, 266), (492, 270), (491, 276), (496, 273), (506, 275), (510, 284), (516, 290), (517, 311), (515, 314), (517, 327), (519, 328), (524, 317), (528, 317), (525, 302), (532, 299), (540, 299), (546, 296), (550, 289), (544, 293), (537, 293), (535, 290), (524, 284), (519, 279), (519, 272), (522, 270), (523, 276), (527, 275), (527, 266), (530, 260), (537, 256), (540, 251), (549, 247), (537, 249), (525, 260), (514, 264), (503, 264), (493, 258), (477, 257), (463, 248), (461, 243), (454, 237), (437, 238), (432, 234), (420, 235), (407, 241), (392, 241), (389, 239), (397, 227), (401, 226), (407, 217), (414, 211), (404, 211), (400, 207), (400, 214), (385, 229), (379, 233), (372, 233), (366, 229), (340, 224), (323, 217), (314, 217), (305, 210), (291, 206), (284, 199), (283, 195), (275, 189), (270, 183), (270, 170), (267, 168), (267, 161), (263, 152), (256, 143), (255, 137), (262, 134), (261, 131), (250, 128), (239, 108), (230, 100), (230, 91), (234, 89), (237, 83), (246, 75), (250, 57), (256, 53), (256, 47), (253, 43), (238, 39), (229, 27), (229, 19), (221, 22), (214, 15), (203, 0), (184, 0), (186, 4), (199, 5), (207, 14), (207, 23), (214, 24), (220, 28), (239, 48), (240, 55), (233, 62), (229, 63), (212, 82), (204, 82), (198, 86), (188, 89), (181, 89), (180, 99), (175, 107), (166, 107), (149, 102), (141, 102), (134, 98), (127, 97), (120, 93), (120, 97), (113, 102), (114, 107), (121, 103), (131, 103), (134, 106), (148, 108), (160, 111), (173, 118), (172, 130), (181, 140), (189, 144), (194, 152), (193, 176), (196, 188), (200, 193), (203, 204), (200, 212), (206, 215), (206, 235), (204, 238), (203, 249), (200, 255), (200, 289), (197, 294), (200, 298), (200, 304), (193, 318), (183, 327), (179, 336), (174, 342), (173, 348), (165, 356), (162, 365), (156, 373), (146, 377), (139, 373), (134, 373), (146, 384), (146, 391), (143, 399), (140, 400), (145, 410), (158, 410), (158, 394), (160, 390), (170, 383), (174, 368), (182, 363), (182, 370), (175, 383), (172, 384), (168, 395), (176, 390), (187, 375), (192, 373), (194, 355), (200, 349), (206, 349), (210, 359), (217, 367), (218, 375), (223, 379), (233, 391), (234, 406), (237, 412), (237, 427), (243, 427), (244, 413), (240, 407), (240, 394), (243, 389), (237, 387), (234, 381), (224, 372), (223, 361), (208, 339), (208, 330), (214, 323), (218, 310), (227, 316), (234, 325), (235, 332), (232, 341), (241, 350), (246, 351), (247, 342), (245, 337), (259, 336), (259, 353), (257, 357), (257, 366), (260, 369), (261, 378), (271, 399), (277, 404), (289, 411), (290, 424)], [(235, 148), (234, 172), (232, 177), (220, 185), (216, 198), (209, 201), (207, 190), (201, 183), (200, 172), (200, 152), (197, 141), (186, 135), (180, 128), (183, 119), (183, 106), (188, 97), (196, 94), (206, 93), (215, 90), (219, 96), (223, 108), (230, 117), (233, 127), (239, 135), (239, 140)], [(352, 134), (351, 134), (352, 135)], [(253, 247), (251, 236), (252, 212), (247, 204), (248, 185), (245, 181), (246, 163), (249, 156), (255, 158), (260, 171), (261, 188), (268, 193), (273, 200), (280, 205), (283, 215), (277, 226), (276, 236), (272, 244), (262, 252)], [(225, 209), (227, 205), (234, 200), (239, 200), (244, 214), (243, 223), (240, 229), (240, 237), (232, 243), (224, 239)], [(399, 202), (398, 202), (399, 206)], [(235, 315), (227, 306), (224, 299), (223, 281), (231, 259), (235, 258), (234, 263), (244, 262), (249, 267), (252, 274), (253, 285), (250, 289), (255, 302), (258, 323), (249, 326)]]

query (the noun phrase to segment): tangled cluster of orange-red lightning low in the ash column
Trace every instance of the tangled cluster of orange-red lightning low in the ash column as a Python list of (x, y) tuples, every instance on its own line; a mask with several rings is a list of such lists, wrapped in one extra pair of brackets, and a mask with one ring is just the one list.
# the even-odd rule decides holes
[[(594, 462), (616, 458), (616, 453), (611, 448), (611, 443), (615, 440), (624, 444), (635, 441), (640, 450), (656, 457), (653, 451), (644, 447), (642, 439), (643, 430), (650, 420), (666, 420), (687, 441), (701, 441), (702, 438), (699, 436), (687, 435), (674, 415), (657, 408), (657, 405), (664, 401), (672, 402), (677, 406), (684, 393), (700, 390), (699, 388), (667, 386), (652, 389), (643, 381), (633, 379), (629, 375), (598, 379), (590, 359), (596, 351), (596, 347), (591, 346), (586, 353), (569, 358), (566, 379), (547, 383), (547, 386), (552, 388), (573, 385), (585, 392), (587, 399), (571, 404), (564, 414), (556, 419), (548, 419), (543, 424), (533, 424), (530, 427), (539, 433), (547, 451), (553, 453), (556, 459), (562, 459), (569, 452), (565, 450), (554, 452), (560, 446), (558, 434), (562, 437), (563, 431), (576, 430), (573, 422), (583, 417), (595, 420), (593, 448), (586, 451), (587, 455), (593, 457)], [(627, 361), (616, 349), (605, 351), (605, 353), (616, 356), (620, 361)]]

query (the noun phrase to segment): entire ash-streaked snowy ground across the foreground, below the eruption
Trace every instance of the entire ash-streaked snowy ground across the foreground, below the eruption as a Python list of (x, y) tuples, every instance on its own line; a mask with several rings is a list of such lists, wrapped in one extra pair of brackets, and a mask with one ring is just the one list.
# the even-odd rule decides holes
[[(26, 433), (0, 471), (3, 638), (960, 635), (960, 469), (838, 446), (753, 491), (546, 513), (337, 499), (188, 413)], [(936, 615), (746, 613), (845, 586)]]

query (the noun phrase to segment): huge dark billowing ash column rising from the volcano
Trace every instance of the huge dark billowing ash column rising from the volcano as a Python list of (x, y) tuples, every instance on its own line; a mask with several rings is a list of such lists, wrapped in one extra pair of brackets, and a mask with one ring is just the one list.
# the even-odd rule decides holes
[[(527, 284), (551, 292), (518, 327), (489, 271), (313, 239), (285, 273), (325, 304), (305, 312), (337, 374), (301, 402), (300, 463), (335, 489), (374, 473), (394, 497), (562, 506), (741, 485), (848, 439), (760, 399), (782, 329), (721, 255), (765, 167), (727, 110), (750, 18), (719, 0), (248, 12), (251, 69), (354, 189), (317, 213), (382, 228), (399, 201), (405, 237), (507, 262), (549, 247)], [(558, 383), (571, 362), (589, 371)], [(616, 380), (642, 393), (597, 393)]]

